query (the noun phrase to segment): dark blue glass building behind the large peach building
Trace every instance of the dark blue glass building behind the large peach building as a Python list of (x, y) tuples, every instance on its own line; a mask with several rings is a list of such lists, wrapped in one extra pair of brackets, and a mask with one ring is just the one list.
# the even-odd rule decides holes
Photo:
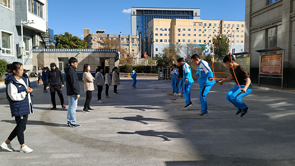
[(141, 40), (144, 54), (147, 52), (148, 22), (152, 19), (200, 19), (199, 8), (131, 8), (131, 34), (142, 33)]

